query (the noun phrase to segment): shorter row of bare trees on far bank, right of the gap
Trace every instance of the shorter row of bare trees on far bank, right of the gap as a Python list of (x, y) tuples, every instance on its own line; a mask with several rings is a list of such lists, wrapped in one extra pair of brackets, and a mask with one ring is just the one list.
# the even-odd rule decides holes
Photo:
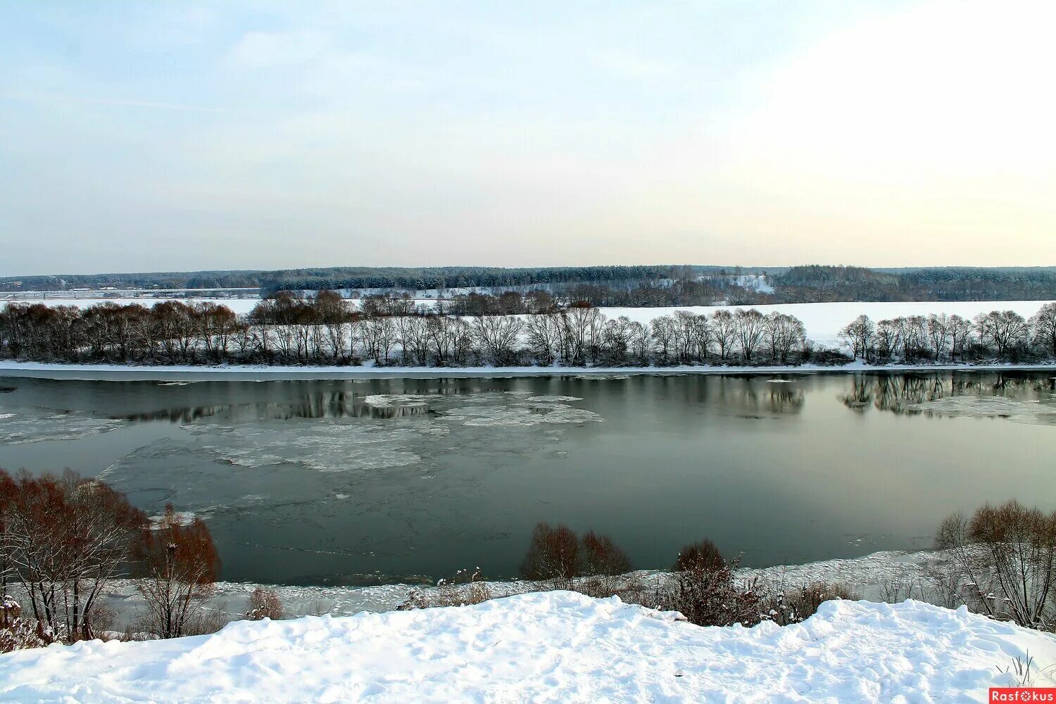
[(973, 320), (931, 313), (873, 323), (859, 316), (840, 337), (855, 358), (879, 363), (1053, 359), (1056, 303), (1046, 303), (1030, 320), (1015, 310), (992, 310)]

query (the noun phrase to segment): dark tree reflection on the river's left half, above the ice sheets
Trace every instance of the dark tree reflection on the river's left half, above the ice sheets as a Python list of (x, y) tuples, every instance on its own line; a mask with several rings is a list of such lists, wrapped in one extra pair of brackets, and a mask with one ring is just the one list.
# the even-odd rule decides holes
[[(356, 402), (357, 399), (360, 400), (359, 403)], [(308, 394), (298, 401), (166, 408), (120, 416), (120, 418), (133, 422), (167, 420), (172, 423), (190, 423), (204, 418), (225, 416), (231, 422), (252, 422), (293, 418), (402, 418), (423, 416), (428, 413), (429, 406), (425, 404), (375, 407), (362, 403), (361, 397), (347, 392), (318, 392)]]

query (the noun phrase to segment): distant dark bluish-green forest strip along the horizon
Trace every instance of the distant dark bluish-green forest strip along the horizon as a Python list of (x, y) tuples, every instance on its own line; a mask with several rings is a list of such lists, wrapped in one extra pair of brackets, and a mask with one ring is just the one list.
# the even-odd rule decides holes
[(69, 274), (0, 280), (0, 291), (75, 288), (259, 288), (394, 292), (485, 287), (540, 288), (591, 305), (671, 306), (824, 301), (1011, 301), (1056, 299), (1056, 267), (854, 266), (719, 267), (697, 265), (504, 267), (329, 267), (279, 271)]

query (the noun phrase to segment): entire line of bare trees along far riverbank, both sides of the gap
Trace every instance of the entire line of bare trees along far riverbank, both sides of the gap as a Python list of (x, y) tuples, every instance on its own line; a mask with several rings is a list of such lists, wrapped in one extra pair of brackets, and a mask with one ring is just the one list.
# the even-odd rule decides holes
[[(807, 339), (802, 321), (754, 308), (676, 310), (648, 323), (606, 317), (584, 302), (476, 294), (437, 306), (369, 297), (354, 309), (334, 291), (284, 291), (248, 315), (212, 302), (152, 308), (100, 303), (84, 309), (8, 304), (0, 311), (0, 356), (31, 361), (157, 364), (412, 366), (670, 366), (846, 363)], [(870, 363), (1026, 362), (1056, 357), (1056, 304), (1031, 320), (992, 311), (968, 321), (931, 315), (873, 323), (860, 316), (841, 332)]]

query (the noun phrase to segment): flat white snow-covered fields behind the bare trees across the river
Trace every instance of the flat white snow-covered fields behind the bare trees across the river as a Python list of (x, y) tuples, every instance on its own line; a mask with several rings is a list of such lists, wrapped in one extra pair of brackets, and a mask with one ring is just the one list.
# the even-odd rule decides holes
[[(150, 306), (158, 301), (155, 299), (111, 299), (121, 305), (138, 303)], [(259, 300), (257, 299), (186, 299), (186, 301), (212, 301), (228, 306), (237, 313), (249, 312)], [(81, 308), (100, 303), (89, 299), (49, 299), (42, 301), (48, 305), (74, 305)], [(731, 310), (738, 307), (756, 308), (769, 313), (773, 310), (795, 316), (807, 328), (807, 337), (827, 346), (840, 344), (838, 334), (847, 323), (865, 313), (874, 321), (899, 316), (927, 316), (928, 313), (958, 315), (962, 318), (975, 318), (980, 312), (991, 310), (1015, 310), (1023, 318), (1030, 318), (1041, 306), (1050, 301), (914, 301), (902, 303), (782, 303), (779, 305), (760, 306), (728, 306)], [(603, 307), (601, 311), (608, 318), (626, 316), (640, 323), (647, 323), (660, 316), (670, 316), (676, 310), (692, 310), (696, 313), (713, 313), (719, 307), (713, 306), (674, 306), (667, 308), (616, 308)]]

